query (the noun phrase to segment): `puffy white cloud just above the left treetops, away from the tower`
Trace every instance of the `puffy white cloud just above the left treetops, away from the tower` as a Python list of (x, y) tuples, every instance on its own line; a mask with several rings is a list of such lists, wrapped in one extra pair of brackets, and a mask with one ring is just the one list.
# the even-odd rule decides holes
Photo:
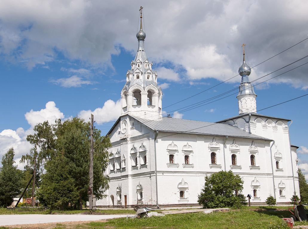
[(25, 118), (30, 126), (34, 127), (37, 123), (41, 123), (46, 120), (48, 120), (49, 123), (54, 123), (56, 119), (63, 119), (64, 115), (59, 108), (56, 107), (54, 101), (49, 101), (46, 103), (45, 109), (41, 109), (40, 111), (34, 111), (31, 109), (25, 114)]

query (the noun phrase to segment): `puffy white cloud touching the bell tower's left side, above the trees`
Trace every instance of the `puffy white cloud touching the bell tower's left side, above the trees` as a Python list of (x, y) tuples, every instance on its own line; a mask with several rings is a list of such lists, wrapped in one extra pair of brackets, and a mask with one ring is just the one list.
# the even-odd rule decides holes
[(79, 112), (78, 116), (87, 121), (89, 120), (91, 113), (96, 121), (109, 122), (116, 120), (121, 114), (121, 101), (118, 100), (114, 102), (112, 100), (107, 100), (103, 107), (96, 108), (94, 111), (82, 110)]

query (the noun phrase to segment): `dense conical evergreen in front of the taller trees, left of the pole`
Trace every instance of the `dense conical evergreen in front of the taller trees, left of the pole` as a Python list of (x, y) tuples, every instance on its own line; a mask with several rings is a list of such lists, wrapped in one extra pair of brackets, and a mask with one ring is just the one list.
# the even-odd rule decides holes
[(41, 203), (46, 203), (51, 209), (65, 210), (69, 203), (75, 203), (79, 193), (75, 180), (69, 174), (69, 166), (64, 156), (55, 157), (47, 162), (46, 173), (36, 192)]

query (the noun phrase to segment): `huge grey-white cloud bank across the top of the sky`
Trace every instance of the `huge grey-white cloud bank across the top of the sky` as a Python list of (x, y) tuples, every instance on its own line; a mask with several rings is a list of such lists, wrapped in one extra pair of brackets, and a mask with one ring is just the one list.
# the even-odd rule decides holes
[[(156, 69), (162, 79), (178, 80), (177, 68), (183, 68), (184, 80), (210, 77), (224, 81), (237, 74), (242, 42), (246, 43), (246, 60), (253, 66), (306, 38), (302, 28), (308, 23), (307, 8), (308, 2), (301, 0), (279, 4), (245, 0), (199, 0), (194, 4), (184, 0), (147, 1), (145, 48), (150, 61), (168, 65)], [(243, 9), (241, 14), (238, 9)], [(107, 4), (87, 0), (2, 0), (0, 52), (8, 61), (24, 63), (29, 68), (55, 61), (55, 50), (70, 60), (80, 60), (84, 66), (112, 67), (111, 56), (119, 54), (122, 47), (136, 52), (132, 25), (136, 24), (137, 14), (136, 4), (127, 1)], [(104, 23), (110, 18), (115, 20)], [(259, 71), (253, 69), (251, 77), (254, 71), (259, 76), (305, 56), (307, 47), (308, 43), (303, 42), (259, 65)], [(307, 89), (306, 72), (301, 67), (269, 83)], [(239, 78), (230, 82), (238, 82)]]

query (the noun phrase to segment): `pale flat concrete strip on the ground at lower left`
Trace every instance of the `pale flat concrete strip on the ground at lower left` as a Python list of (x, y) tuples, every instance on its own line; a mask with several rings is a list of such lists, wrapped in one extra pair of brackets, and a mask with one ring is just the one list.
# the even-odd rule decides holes
[(122, 218), (127, 215), (0, 215), (0, 226), (34, 223), (57, 223)]

